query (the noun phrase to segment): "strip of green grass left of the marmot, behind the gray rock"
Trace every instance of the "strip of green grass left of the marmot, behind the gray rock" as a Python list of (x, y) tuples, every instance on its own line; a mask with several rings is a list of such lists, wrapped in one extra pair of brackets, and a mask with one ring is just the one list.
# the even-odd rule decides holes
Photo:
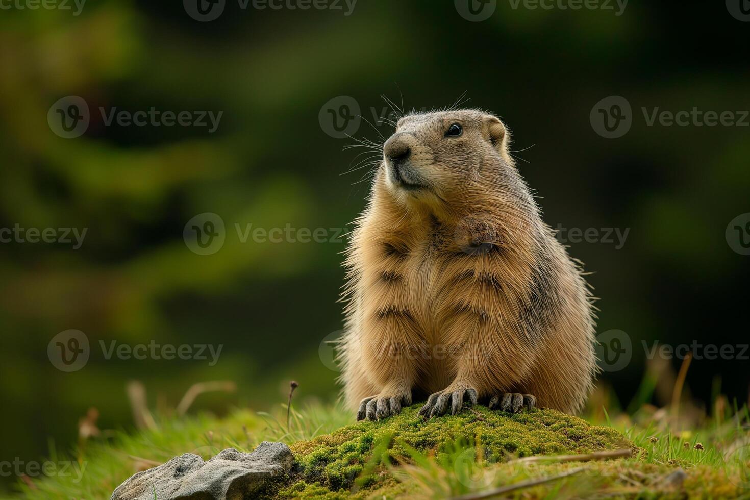
[(20, 493), (10, 498), (109, 499), (125, 478), (184, 453), (208, 459), (224, 448), (252, 451), (264, 440), (293, 443), (329, 433), (351, 422), (350, 415), (344, 412), (313, 405), (304, 412), (292, 412), (289, 430), (285, 428), (285, 409), (284, 412), (280, 409), (278, 418), (263, 412), (236, 410), (224, 419), (198, 415), (157, 418), (156, 423), (154, 430), (118, 431), (108, 433), (107, 438), (89, 439), (73, 451), (72, 457), (63, 457), (51, 450), (47, 459), (54, 463), (73, 462), (83, 470), (81, 480), (76, 481), (77, 476), (73, 474), (40, 480), (26, 478), (19, 484)]

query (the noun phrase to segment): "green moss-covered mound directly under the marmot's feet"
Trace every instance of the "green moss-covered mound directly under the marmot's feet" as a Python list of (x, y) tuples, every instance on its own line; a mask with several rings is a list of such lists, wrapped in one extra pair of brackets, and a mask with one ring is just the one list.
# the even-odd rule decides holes
[(353, 487), (362, 494), (362, 490), (382, 488), (392, 481), (386, 473), (388, 464), (410, 463), (415, 454), (440, 461), (441, 455), (466, 445), (480, 449), (489, 463), (502, 462), (508, 456), (633, 447), (610, 427), (592, 426), (555, 410), (509, 414), (476, 406), (430, 420), (420, 418), (418, 411), (419, 405), (410, 406), (383, 421), (342, 427), (291, 445), (296, 481), (278, 496), (338, 499), (353, 493)]

